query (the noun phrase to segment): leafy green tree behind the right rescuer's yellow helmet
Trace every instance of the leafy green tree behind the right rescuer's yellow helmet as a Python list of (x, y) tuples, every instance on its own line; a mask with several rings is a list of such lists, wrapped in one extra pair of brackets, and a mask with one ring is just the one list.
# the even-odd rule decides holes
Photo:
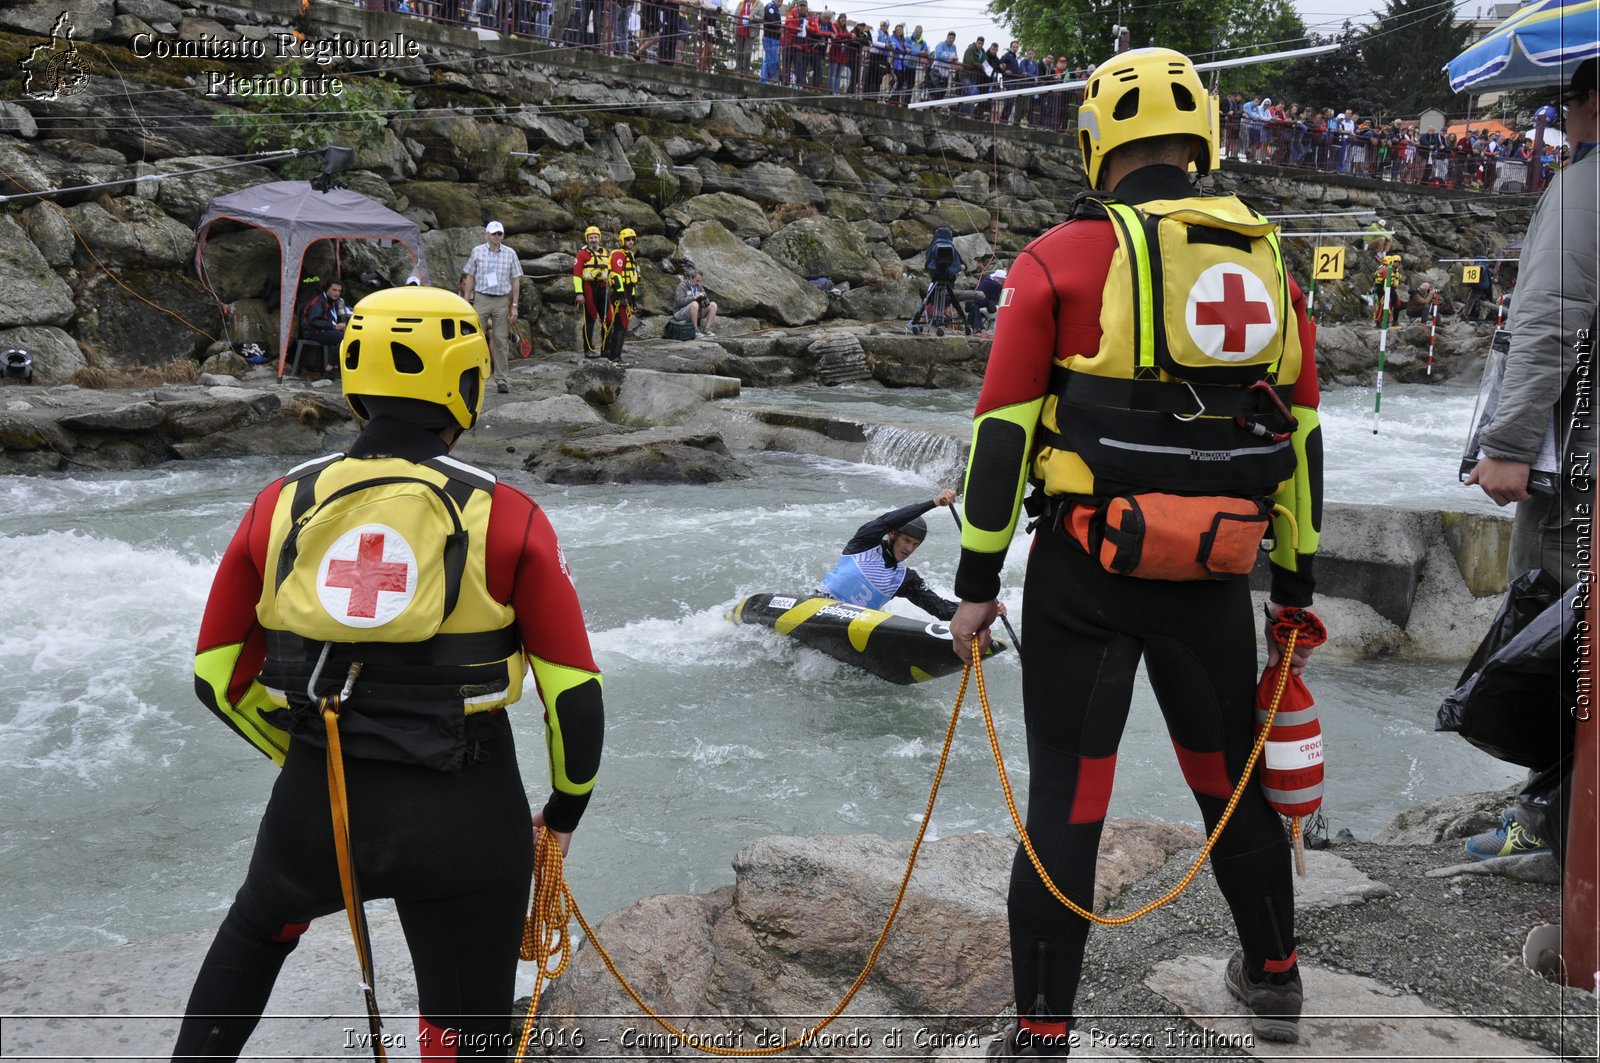
[(1294, 48), (1306, 37), (1290, 0), (990, 0), (989, 13), (1024, 45), (1080, 69), (1115, 54), (1117, 26), (1133, 48), (1173, 48), (1197, 62)]

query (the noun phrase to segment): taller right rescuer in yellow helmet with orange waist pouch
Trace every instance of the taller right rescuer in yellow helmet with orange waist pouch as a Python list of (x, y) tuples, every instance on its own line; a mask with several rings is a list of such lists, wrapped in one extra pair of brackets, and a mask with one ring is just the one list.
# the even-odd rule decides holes
[[(1322, 443), (1315, 333), (1274, 226), (1235, 197), (1198, 197), (1184, 173), (1206, 173), (1213, 150), (1189, 59), (1141, 48), (1106, 61), (1080, 130), (1101, 199), (1080, 200), (1006, 274), (973, 426), (950, 634), (963, 661), (974, 632), (987, 644), (1032, 482), (1027, 831), (1056, 885), (1090, 908), (1141, 658), (1206, 828), (1221, 818), (1254, 738), (1245, 573), (1270, 512), (1259, 499), (1298, 522), (1296, 540), (1288, 517), (1274, 520), (1267, 608), (1306, 608)], [(1197, 549), (1206, 533), (1210, 552)], [(1254, 781), (1211, 866), (1243, 946), (1227, 989), (1258, 1037), (1296, 1041), (1290, 844)], [(1008, 911), (1019, 1021), (990, 1055), (1066, 1055), (1090, 924), (1045, 890), (1021, 848)]]

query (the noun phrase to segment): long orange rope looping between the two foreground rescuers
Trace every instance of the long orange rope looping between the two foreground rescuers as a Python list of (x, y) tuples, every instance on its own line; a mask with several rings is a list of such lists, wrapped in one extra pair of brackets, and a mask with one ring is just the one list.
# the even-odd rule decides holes
[[(1288, 644), (1283, 647), (1285, 661), (1293, 660), (1294, 639), (1296, 636), (1291, 634)], [(1061, 889), (1051, 880), (1050, 874), (1045, 871), (1045, 866), (1040, 861), (1038, 855), (1034, 852), (1034, 842), (1027, 834), (1027, 828), (1022, 824), (1022, 816), (1016, 807), (1016, 797), (1011, 792), (1011, 780), (1006, 775), (1005, 757), (1000, 754), (1000, 738), (995, 733), (994, 709), (989, 704), (989, 688), (987, 684), (984, 682), (982, 656), (979, 653), (978, 637), (974, 636), (973, 663), (968, 664), (966, 669), (962, 672), (962, 685), (955, 692), (955, 708), (950, 711), (950, 724), (944, 730), (944, 744), (939, 748), (939, 765), (938, 768), (934, 768), (933, 773), (933, 786), (928, 791), (928, 804), (923, 808), (922, 821), (917, 828), (917, 836), (912, 839), (910, 856), (906, 861), (906, 872), (901, 876), (899, 889), (894, 893), (894, 903), (890, 905), (888, 916), (883, 921), (883, 930), (872, 943), (872, 951), (867, 954), (866, 964), (861, 967), (861, 973), (858, 973), (856, 980), (850, 983), (850, 988), (845, 991), (843, 997), (838, 1001), (834, 1010), (829, 1012), (827, 1017), (819, 1020), (816, 1025), (803, 1028), (797, 1036), (790, 1037), (782, 1044), (755, 1045), (755, 1047), (718, 1044), (720, 1039), (725, 1039), (725, 1034), (696, 1034), (693, 1031), (677, 1026), (664, 1015), (659, 1015), (653, 1007), (650, 1007), (650, 1004), (640, 996), (638, 989), (635, 989), (634, 985), (629, 983), (627, 977), (621, 972), (621, 969), (618, 969), (616, 961), (600, 943), (600, 938), (598, 935), (595, 935), (594, 927), (590, 927), (589, 921), (584, 919), (582, 909), (579, 909), (576, 898), (573, 898), (571, 889), (566, 885), (563, 879), (560, 845), (554, 840), (549, 831), (539, 831), (534, 845), (533, 901), (530, 905), (528, 921), (523, 927), (522, 953), (520, 953), (522, 959), (536, 964), (536, 969), (534, 969), (533, 994), (528, 999), (528, 1010), (523, 1017), (522, 1034), (517, 1041), (515, 1060), (522, 1063), (522, 1060), (526, 1058), (528, 1049), (536, 1036), (538, 1029), (536, 1021), (539, 1015), (539, 1001), (544, 993), (544, 981), (547, 978), (560, 977), (571, 962), (571, 937), (568, 933), (568, 924), (571, 921), (576, 921), (578, 925), (582, 927), (582, 932), (584, 935), (587, 935), (589, 943), (594, 946), (595, 954), (600, 957), (600, 962), (605, 964), (605, 969), (611, 972), (611, 977), (616, 978), (618, 985), (622, 986), (622, 989), (634, 1001), (638, 1010), (643, 1015), (646, 1015), (651, 1021), (654, 1021), (662, 1031), (666, 1031), (667, 1036), (672, 1037), (677, 1044), (682, 1044), (683, 1047), (693, 1049), (704, 1055), (718, 1055), (718, 1057), (774, 1057), (774, 1055), (782, 1055), (786, 1052), (792, 1052), (794, 1049), (803, 1045), (814, 1044), (818, 1034), (824, 1031), (827, 1026), (830, 1026), (835, 1020), (838, 1020), (840, 1015), (843, 1015), (845, 1009), (850, 1007), (850, 1002), (854, 1001), (856, 994), (861, 991), (861, 986), (866, 985), (867, 977), (872, 973), (872, 969), (877, 965), (878, 957), (883, 953), (883, 945), (885, 941), (888, 941), (890, 930), (894, 929), (894, 921), (899, 916), (901, 905), (906, 901), (906, 890), (910, 885), (912, 871), (917, 868), (917, 856), (922, 853), (923, 837), (928, 832), (928, 824), (933, 823), (933, 807), (938, 802), (939, 784), (944, 781), (944, 768), (947, 767), (950, 759), (950, 746), (955, 741), (955, 725), (962, 719), (962, 704), (966, 701), (968, 680), (974, 677), (978, 685), (978, 701), (984, 714), (984, 730), (989, 738), (989, 751), (994, 754), (995, 770), (1000, 775), (1000, 789), (1005, 794), (1006, 810), (1010, 812), (1011, 824), (1016, 828), (1018, 837), (1022, 842), (1022, 850), (1027, 853), (1027, 858), (1034, 864), (1034, 869), (1038, 872), (1038, 877), (1043, 882), (1045, 889), (1051, 893), (1051, 897), (1061, 901), (1072, 913), (1102, 927), (1122, 927), (1134, 922), (1136, 919), (1142, 919), (1144, 916), (1160, 908), (1165, 908), (1166, 905), (1174, 901), (1186, 889), (1189, 889), (1195, 876), (1200, 874), (1200, 868), (1203, 868), (1205, 861), (1210, 858), (1211, 848), (1222, 836), (1222, 831), (1227, 829), (1227, 824), (1234, 816), (1234, 808), (1238, 807), (1238, 800), (1243, 797), (1245, 788), (1250, 784), (1256, 770), (1256, 764), (1261, 760), (1262, 751), (1266, 749), (1267, 736), (1272, 733), (1272, 724), (1277, 719), (1278, 704), (1283, 698), (1283, 690), (1288, 674), (1290, 669), (1285, 666), (1282, 669), (1278, 684), (1272, 693), (1272, 703), (1270, 706), (1267, 706), (1266, 720), (1259, 724), (1256, 743), (1250, 751), (1250, 757), (1245, 760), (1245, 768), (1240, 773), (1238, 784), (1234, 788), (1234, 792), (1229, 797), (1227, 807), (1224, 808), (1221, 820), (1218, 820), (1216, 828), (1211, 831), (1210, 837), (1206, 837), (1205, 845), (1200, 848), (1200, 853), (1195, 856), (1195, 861), (1189, 868), (1189, 871), (1173, 889), (1170, 889), (1162, 897), (1149, 901), (1142, 908), (1131, 911), (1125, 916), (1099, 916), (1093, 911), (1088, 911), (1086, 908), (1082, 908), (1080, 905), (1072, 901), (1066, 893), (1062, 893)]]

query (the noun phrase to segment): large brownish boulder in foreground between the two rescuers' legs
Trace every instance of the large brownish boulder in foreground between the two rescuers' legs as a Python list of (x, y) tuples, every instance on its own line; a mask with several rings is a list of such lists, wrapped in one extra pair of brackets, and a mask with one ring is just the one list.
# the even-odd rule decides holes
[[(1187, 826), (1107, 823), (1094, 908), (1104, 911), (1126, 887), (1202, 842)], [(824, 1031), (797, 1055), (904, 1058), (904, 1044), (885, 1044), (883, 1034), (904, 1026), (893, 1017), (915, 1015), (925, 1034), (938, 1037), (998, 1013), (1011, 997), (1003, 943), (1014, 855), (1016, 842), (995, 834), (925, 842), (848, 1028)], [(627, 957), (629, 980), (659, 1010), (698, 1017), (690, 1029), (715, 1031), (723, 1047), (763, 1047), (800, 1033), (797, 1017), (819, 1015), (851, 986), (909, 856), (910, 842), (872, 836), (762, 837), (734, 856), (733, 887), (646, 898), (595, 932), (613, 956)], [(590, 1044), (621, 1055), (667, 1055), (664, 1042), (638, 1036), (648, 1031), (587, 941), (546, 989), (541, 1017), (552, 1029), (581, 1028)]]

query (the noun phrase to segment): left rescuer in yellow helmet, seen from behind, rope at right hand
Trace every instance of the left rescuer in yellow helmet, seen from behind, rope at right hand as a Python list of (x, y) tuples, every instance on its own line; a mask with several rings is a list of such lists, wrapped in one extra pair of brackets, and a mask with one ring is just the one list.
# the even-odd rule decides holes
[[(256, 496), (200, 626), (195, 692), (283, 770), (174, 1060), (238, 1057), (299, 935), (344, 908), (323, 704), (355, 879), (395, 901), (426, 1058), (515, 1047), (534, 834), (566, 850), (600, 767), (600, 672), (555, 533), (526, 495), (450, 458), (490, 381), (478, 315), (437, 288), (373, 293), (341, 362), (360, 435)], [(507, 712), (530, 664), (552, 776), (533, 831)]]

